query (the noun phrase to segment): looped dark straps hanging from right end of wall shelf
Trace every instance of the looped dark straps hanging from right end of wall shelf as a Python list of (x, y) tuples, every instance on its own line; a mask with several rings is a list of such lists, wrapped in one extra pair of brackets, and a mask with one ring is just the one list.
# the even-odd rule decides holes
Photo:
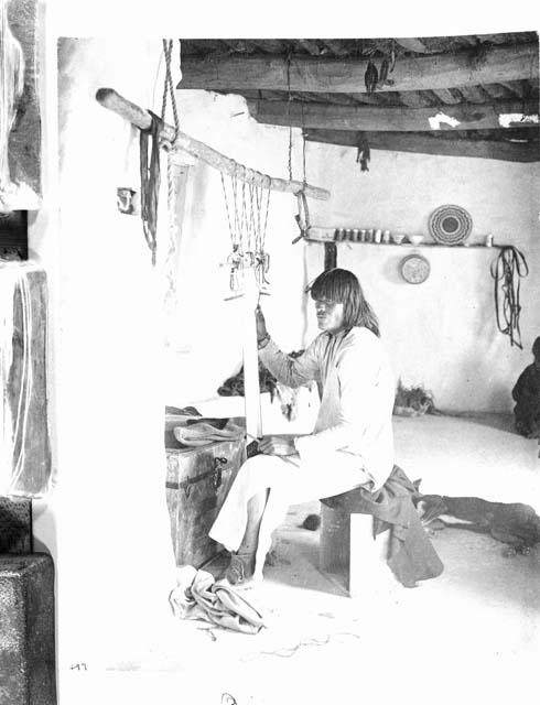
[(519, 280), (528, 273), (529, 267), (525, 254), (514, 246), (500, 248), (497, 259), (492, 263), (497, 327), (503, 335), (509, 336), (510, 345), (516, 345), (521, 350), (523, 347), (519, 328), (521, 313)]

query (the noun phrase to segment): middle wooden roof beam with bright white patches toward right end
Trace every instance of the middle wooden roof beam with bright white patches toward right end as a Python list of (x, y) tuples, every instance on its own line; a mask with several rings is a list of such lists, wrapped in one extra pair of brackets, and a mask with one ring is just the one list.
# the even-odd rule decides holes
[[(327, 130), (432, 131), (479, 130), (501, 127), (537, 127), (538, 102), (493, 102), (431, 108), (336, 106), (320, 102), (248, 100), (251, 116), (266, 124)], [(526, 111), (529, 121), (506, 124), (504, 116)]]

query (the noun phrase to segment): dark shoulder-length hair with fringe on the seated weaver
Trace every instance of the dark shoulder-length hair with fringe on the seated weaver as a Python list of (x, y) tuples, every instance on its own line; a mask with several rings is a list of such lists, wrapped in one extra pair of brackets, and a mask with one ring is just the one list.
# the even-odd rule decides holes
[(311, 297), (343, 304), (343, 322), (346, 330), (365, 326), (380, 336), (379, 321), (366, 301), (358, 279), (346, 269), (331, 269), (320, 274), (309, 286)]

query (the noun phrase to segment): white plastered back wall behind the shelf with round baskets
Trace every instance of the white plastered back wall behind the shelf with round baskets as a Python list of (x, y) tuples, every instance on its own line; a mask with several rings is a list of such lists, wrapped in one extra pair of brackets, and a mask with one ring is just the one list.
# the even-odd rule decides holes
[[(370, 171), (361, 173), (353, 149), (314, 144), (309, 154), (320, 165), (314, 177), (333, 194), (328, 204), (314, 204), (316, 223), (420, 234), (431, 241), (430, 214), (457, 204), (473, 218), (469, 242), (484, 242), (490, 234), (496, 243), (522, 251), (529, 275), (520, 280), (520, 350), (496, 326), (490, 265), (498, 250), (337, 248), (338, 265), (358, 274), (380, 317), (403, 383), (430, 389), (441, 409), (511, 409), (511, 388), (540, 335), (540, 165), (374, 151)], [(320, 269), (318, 249), (310, 247), (310, 271)], [(420, 285), (400, 274), (411, 251), (431, 264)]]

